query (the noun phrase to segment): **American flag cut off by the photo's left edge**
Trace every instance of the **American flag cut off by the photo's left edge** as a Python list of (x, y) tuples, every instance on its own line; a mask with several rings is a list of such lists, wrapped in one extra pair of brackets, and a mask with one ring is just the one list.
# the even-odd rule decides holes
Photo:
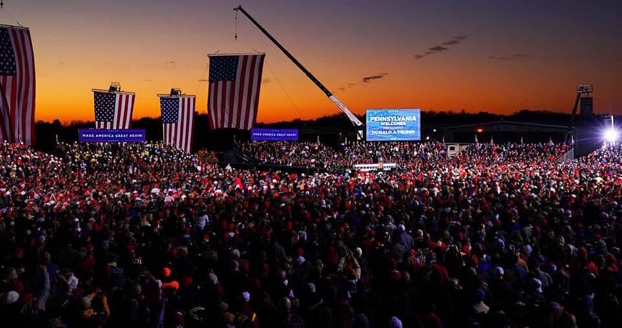
[(35, 57), (28, 28), (0, 25), (0, 141), (35, 143)]

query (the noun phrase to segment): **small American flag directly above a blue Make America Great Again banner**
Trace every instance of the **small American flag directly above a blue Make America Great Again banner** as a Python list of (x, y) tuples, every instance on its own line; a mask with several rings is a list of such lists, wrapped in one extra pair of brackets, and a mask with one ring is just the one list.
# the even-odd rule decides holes
[(95, 95), (95, 128), (129, 129), (135, 96), (131, 92), (93, 90)]

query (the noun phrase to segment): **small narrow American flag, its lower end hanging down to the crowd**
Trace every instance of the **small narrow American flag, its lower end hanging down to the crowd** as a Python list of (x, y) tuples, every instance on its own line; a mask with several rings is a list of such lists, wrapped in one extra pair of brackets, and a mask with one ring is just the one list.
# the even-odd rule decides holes
[(195, 96), (160, 96), (162, 135), (165, 145), (186, 153), (192, 150)]

